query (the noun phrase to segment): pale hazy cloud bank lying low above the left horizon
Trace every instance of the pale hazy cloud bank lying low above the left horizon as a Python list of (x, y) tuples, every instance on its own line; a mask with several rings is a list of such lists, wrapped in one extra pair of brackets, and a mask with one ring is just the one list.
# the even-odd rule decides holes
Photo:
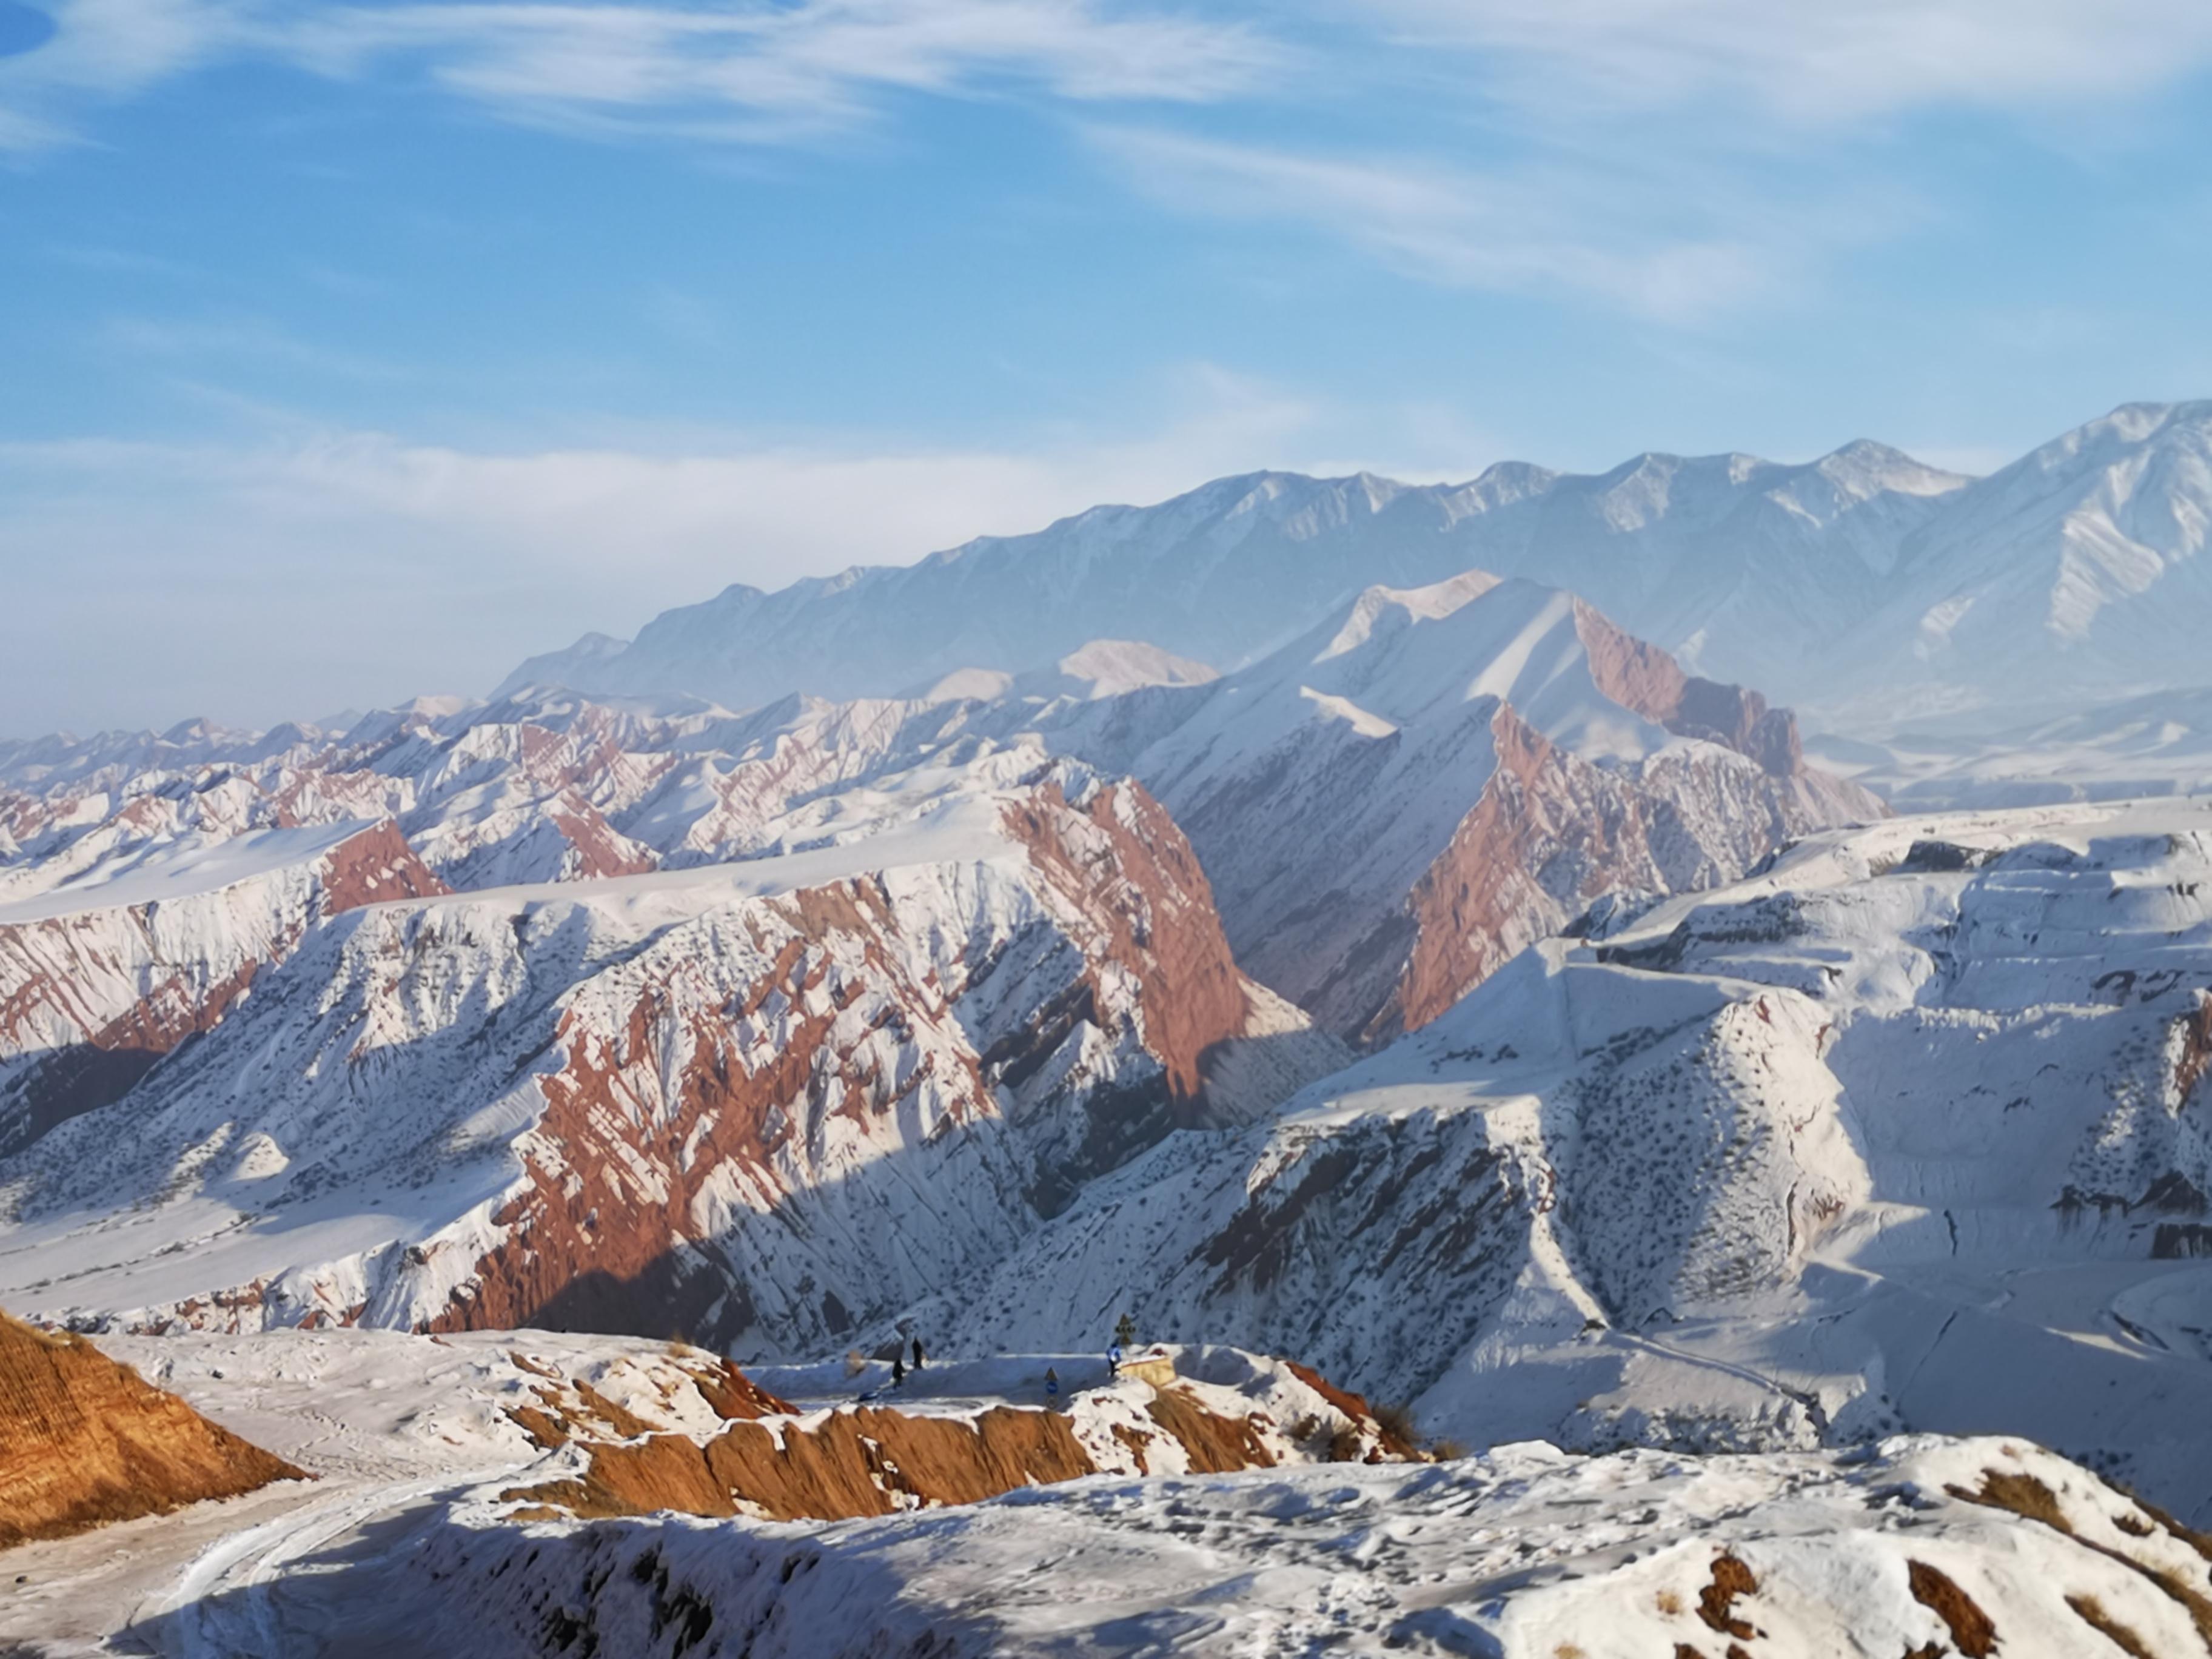
[[(376, 434), (0, 445), (0, 737), (314, 717), (480, 692), (586, 628), (1159, 500), (1340, 442), (1192, 369), (1144, 436), (1031, 449), (752, 445), (478, 453)], [(1292, 451), (1292, 453), (1285, 453)]]

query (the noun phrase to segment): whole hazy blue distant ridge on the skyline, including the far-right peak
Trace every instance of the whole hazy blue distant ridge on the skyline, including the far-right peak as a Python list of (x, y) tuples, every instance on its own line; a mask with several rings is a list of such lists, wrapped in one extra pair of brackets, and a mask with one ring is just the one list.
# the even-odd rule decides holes
[(1230, 670), (1367, 586), (1484, 568), (1571, 588), (1697, 672), (1878, 723), (2203, 679), (2208, 524), (2212, 403), (2126, 405), (1982, 480), (1869, 440), (1805, 465), (1500, 462), (1464, 484), (1263, 471), (909, 566), (732, 586), (626, 648), (533, 657), (500, 692), (894, 695), (1097, 637)]

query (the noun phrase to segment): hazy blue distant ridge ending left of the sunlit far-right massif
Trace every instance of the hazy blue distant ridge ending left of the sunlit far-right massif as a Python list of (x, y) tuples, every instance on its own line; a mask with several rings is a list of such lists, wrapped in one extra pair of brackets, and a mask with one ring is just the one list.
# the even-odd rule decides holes
[(1803, 467), (1741, 453), (1646, 453), (1601, 476), (1500, 462), (1433, 487), (1245, 473), (914, 566), (730, 588), (664, 613), (628, 648), (586, 639), (531, 659), (502, 690), (560, 681), (730, 708), (792, 690), (889, 695), (958, 670), (1044, 672), (1102, 635), (1232, 668), (1369, 586), (1413, 591), (1469, 568), (1573, 588), (1646, 637), (1767, 679), (1803, 655), (1765, 655), (1776, 624), (1865, 611), (1902, 538), (1962, 482), (1874, 442)]

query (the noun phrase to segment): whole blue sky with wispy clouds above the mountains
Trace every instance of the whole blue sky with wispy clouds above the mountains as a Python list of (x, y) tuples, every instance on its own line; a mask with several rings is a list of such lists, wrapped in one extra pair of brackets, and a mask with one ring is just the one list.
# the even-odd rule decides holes
[(2205, 0), (0, 0), (0, 734), (1157, 500), (2212, 394)]

